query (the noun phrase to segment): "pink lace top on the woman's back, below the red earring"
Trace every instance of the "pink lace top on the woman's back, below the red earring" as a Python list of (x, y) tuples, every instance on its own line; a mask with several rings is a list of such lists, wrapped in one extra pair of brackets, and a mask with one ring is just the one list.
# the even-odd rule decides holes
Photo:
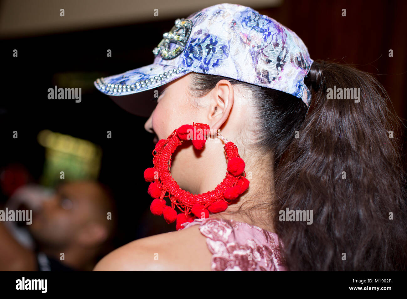
[(229, 219), (199, 218), (184, 228), (200, 225), (212, 253), (212, 271), (286, 271), (277, 234)]

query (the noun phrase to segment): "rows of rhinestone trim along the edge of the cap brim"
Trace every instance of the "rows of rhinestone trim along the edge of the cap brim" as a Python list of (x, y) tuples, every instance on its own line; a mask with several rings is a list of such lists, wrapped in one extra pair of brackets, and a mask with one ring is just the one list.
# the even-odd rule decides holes
[[(143, 87), (151, 86), (151, 85), (158, 85), (157, 83), (162, 83), (162, 80), (169, 79), (175, 74), (179, 74), (182, 68), (174, 68), (173, 70), (169, 70), (168, 72), (164, 72), (162, 74), (155, 75), (153, 78), (138, 80), (134, 84), (126, 85), (126, 84), (111, 84), (106, 83), (104, 78), (96, 79), (96, 84), (98, 88), (103, 91), (105, 94), (123, 94), (125, 92), (131, 92), (134, 90), (138, 90)], [(125, 77), (123, 75), (123, 77)]]

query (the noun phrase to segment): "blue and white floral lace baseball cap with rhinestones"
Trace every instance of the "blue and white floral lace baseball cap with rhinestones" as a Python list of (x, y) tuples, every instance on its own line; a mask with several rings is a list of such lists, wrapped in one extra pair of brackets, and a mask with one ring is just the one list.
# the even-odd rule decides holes
[[(156, 103), (134, 94), (189, 72), (225, 76), (292, 94), (308, 106), (304, 84), (313, 60), (289, 28), (239, 4), (217, 4), (175, 20), (153, 49), (154, 62), (94, 85), (125, 110), (149, 116)], [(133, 97), (123, 97), (134, 95)]]

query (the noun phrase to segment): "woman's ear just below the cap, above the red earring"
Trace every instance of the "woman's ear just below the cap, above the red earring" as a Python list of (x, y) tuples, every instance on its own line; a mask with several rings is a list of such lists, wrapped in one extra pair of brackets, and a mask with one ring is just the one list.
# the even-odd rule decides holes
[(233, 85), (228, 80), (220, 80), (211, 92), (208, 120), (215, 122), (210, 128), (210, 134), (216, 131), (226, 122), (234, 103)]

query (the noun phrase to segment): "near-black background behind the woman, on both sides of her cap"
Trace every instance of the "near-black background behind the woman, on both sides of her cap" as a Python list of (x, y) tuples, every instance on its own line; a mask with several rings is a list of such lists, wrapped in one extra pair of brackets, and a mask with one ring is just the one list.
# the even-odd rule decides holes
[[(202, 4), (204, 7), (207, 5)], [(342, 9), (346, 9), (346, 17), (341, 16)], [(377, 74), (405, 123), (407, 1), (286, 0), (280, 7), (257, 10), (295, 31), (314, 60), (336, 59)], [(144, 181), (143, 171), (153, 165), (154, 144), (153, 135), (144, 130), (147, 118), (120, 109), (96, 90), (93, 81), (152, 63), (151, 51), (162, 34), (177, 17), (186, 16), (0, 40), (0, 168), (20, 164), (31, 173), (31, 181), (38, 181), (44, 148), (38, 144), (37, 134), (43, 129), (100, 145), (99, 180), (112, 188), (118, 205), (116, 246), (174, 230), (175, 224), (167, 225), (149, 212), (149, 183)], [(13, 49), (18, 49), (18, 58), (12, 56)], [(107, 49), (112, 50), (112, 57), (106, 57)], [(394, 57), (389, 57), (389, 49), (394, 50)], [(82, 102), (48, 100), (48, 88), (54, 85), (81, 87)], [(18, 139), (12, 137), (14, 130)], [(107, 131), (112, 131), (112, 139), (106, 138)], [(405, 139), (403, 136), (403, 144)], [(1, 194), (0, 204), (6, 199)]]

